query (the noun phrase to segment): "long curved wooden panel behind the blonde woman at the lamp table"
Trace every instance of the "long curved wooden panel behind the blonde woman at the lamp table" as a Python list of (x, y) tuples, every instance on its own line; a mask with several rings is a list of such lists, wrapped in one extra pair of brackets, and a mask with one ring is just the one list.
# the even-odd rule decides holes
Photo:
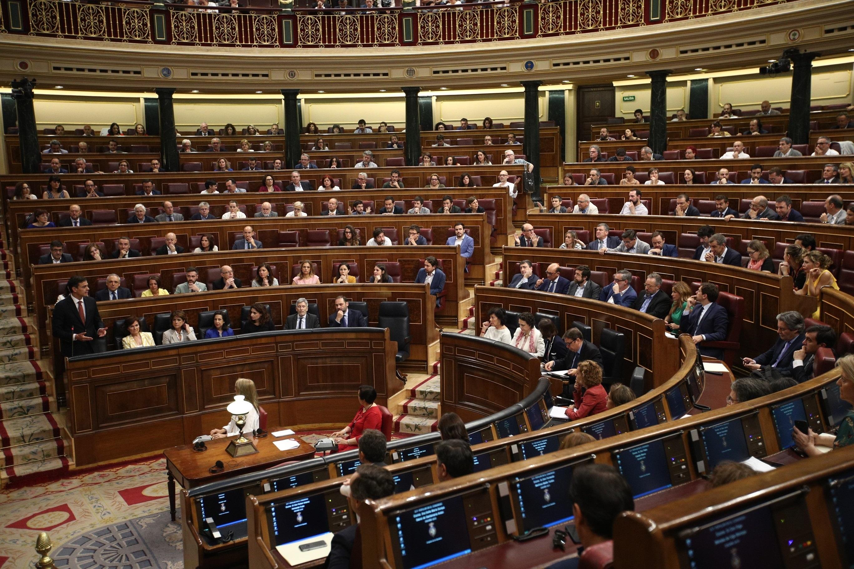
[[(312, 380), (322, 390), (306, 389), (297, 380), (296, 361), (324, 364), (330, 351), (344, 350), (353, 361), (367, 364), (358, 377), (342, 374), (337, 366), (314, 372)], [(270, 425), (347, 423), (355, 413), (359, 381), (377, 389), (379, 404), (401, 389), (395, 379), (396, 351), (388, 329), (338, 328), (68, 359), (67, 427), (75, 462), (85, 466), (190, 444), (228, 421), (225, 406), (239, 377), (260, 386), (260, 404)]]

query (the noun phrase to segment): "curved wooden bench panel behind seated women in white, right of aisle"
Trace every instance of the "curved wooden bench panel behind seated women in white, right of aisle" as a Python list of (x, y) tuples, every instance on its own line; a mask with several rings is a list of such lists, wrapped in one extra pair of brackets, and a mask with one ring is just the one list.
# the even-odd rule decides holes
[[(530, 258), (533, 249), (525, 249), (527, 257), (519, 257), (512, 247), (505, 247), (505, 263), (522, 258)], [(544, 249), (542, 256), (555, 253)], [(560, 258), (549, 255), (548, 262)], [(541, 259), (534, 259), (535, 262)], [(543, 260), (542, 262), (546, 262)], [(506, 266), (506, 265), (505, 265)], [(612, 328), (626, 336), (623, 373), (629, 378), (636, 366), (647, 369), (647, 389), (661, 385), (668, 380), (680, 366), (679, 340), (664, 335), (664, 320), (648, 314), (634, 311), (623, 306), (609, 305), (598, 300), (576, 299), (565, 294), (541, 293), (539, 291), (518, 290), (504, 287), (475, 287), (476, 329), (479, 322), (486, 322), (487, 312), (500, 306), (506, 311), (546, 312), (559, 315), (561, 328), (571, 328), (572, 322), (585, 322), (593, 328), (594, 344), (599, 343), (602, 328)], [(444, 380), (444, 376), (442, 377)], [(444, 388), (442, 390), (444, 392)]]

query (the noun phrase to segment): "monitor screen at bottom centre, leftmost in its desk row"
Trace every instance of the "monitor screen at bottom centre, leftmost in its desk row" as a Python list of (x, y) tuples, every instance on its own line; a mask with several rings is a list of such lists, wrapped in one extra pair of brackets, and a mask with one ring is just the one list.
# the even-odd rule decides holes
[(471, 552), (463, 496), (404, 510), (389, 525), (402, 569), (433, 566)]

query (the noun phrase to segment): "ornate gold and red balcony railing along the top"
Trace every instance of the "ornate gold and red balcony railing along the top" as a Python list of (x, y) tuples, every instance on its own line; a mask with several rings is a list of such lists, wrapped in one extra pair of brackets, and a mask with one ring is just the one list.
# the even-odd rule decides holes
[(174, 4), (4, 0), (0, 34), (212, 47), (352, 48), (497, 42), (652, 26), (793, 0), (560, 0), (460, 8), (190, 9)]

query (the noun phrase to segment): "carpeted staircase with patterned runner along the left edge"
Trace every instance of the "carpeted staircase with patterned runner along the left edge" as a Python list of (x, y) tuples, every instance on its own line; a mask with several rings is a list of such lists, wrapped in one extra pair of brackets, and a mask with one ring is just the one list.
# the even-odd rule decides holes
[(0, 242), (0, 488), (67, 472), (53, 380), (39, 363), (15, 269)]

